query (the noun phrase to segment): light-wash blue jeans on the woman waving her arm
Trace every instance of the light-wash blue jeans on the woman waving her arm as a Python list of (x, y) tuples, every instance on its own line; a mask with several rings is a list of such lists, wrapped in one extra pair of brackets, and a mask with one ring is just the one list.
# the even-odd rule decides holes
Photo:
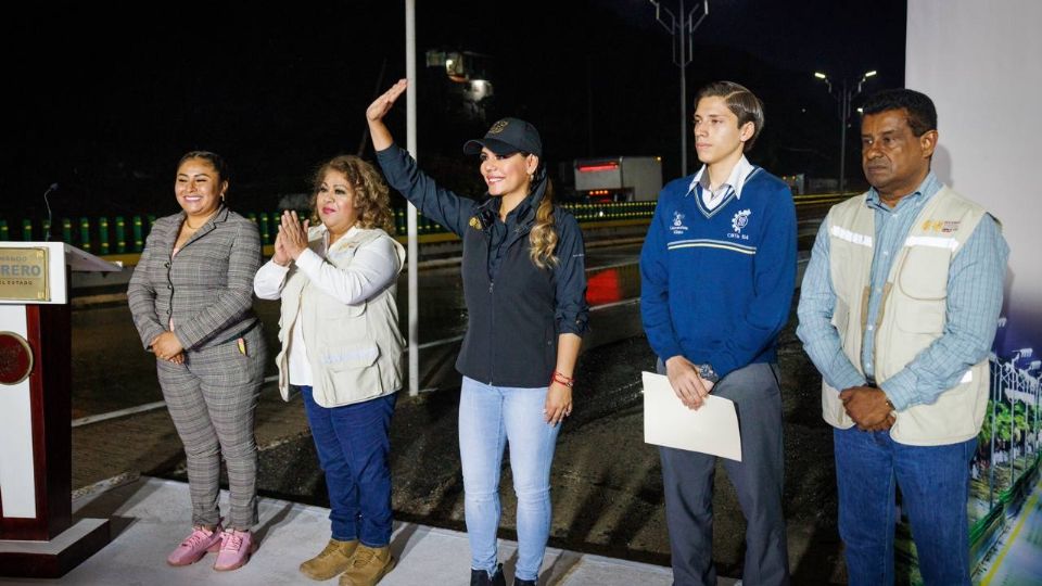
[(499, 468), (510, 443), (518, 496), (518, 565), (514, 576), (536, 579), (550, 535), (550, 464), (560, 425), (543, 416), (546, 388), (490, 386), (463, 377), (459, 394), (459, 457), (463, 467), (470, 566), (496, 568)]

